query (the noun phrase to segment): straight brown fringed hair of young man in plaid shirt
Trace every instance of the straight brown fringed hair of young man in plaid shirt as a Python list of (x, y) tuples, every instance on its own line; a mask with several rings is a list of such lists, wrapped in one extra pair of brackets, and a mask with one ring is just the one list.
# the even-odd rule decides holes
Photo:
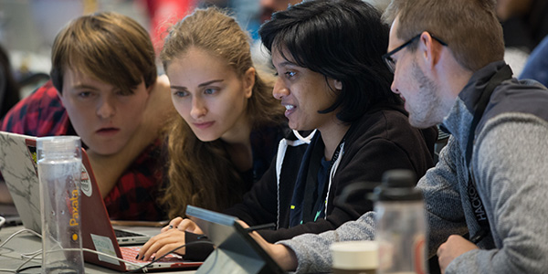
[(144, 79), (153, 85), (157, 72), (153, 43), (148, 32), (128, 16), (113, 12), (80, 16), (55, 37), (51, 49), (50, 76), (62, 92), (65, 69), (132, 93)]

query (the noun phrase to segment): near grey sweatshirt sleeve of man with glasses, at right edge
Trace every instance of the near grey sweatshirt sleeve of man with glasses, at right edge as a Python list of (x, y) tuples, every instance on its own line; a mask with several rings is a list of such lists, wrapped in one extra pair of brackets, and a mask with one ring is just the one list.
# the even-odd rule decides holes
[(548, 269), (548, 122), (530, 114), (491, 119), (476, 141), (474, 171), (496, 248), (454, 259), (446, 273)]

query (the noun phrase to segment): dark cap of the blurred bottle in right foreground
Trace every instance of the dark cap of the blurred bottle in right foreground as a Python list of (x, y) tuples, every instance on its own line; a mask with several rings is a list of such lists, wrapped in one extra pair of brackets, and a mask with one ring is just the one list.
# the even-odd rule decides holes
[(416, 176), (410, 170), (389, 170), (383, 174), (383, 182), (374, 188), (377, 201), (419, 201), (422, 192), (415, 188)]

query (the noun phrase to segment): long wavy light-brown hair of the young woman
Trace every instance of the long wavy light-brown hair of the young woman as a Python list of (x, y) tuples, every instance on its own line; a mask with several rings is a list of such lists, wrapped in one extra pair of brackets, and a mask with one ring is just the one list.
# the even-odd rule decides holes
[[(240, 78), (253, 67), (248, 34), (234, 18), (215, 7), (197, 9), (172, 28), (160, 54), (164, 70), (190, 47), (223, 58)], [(283, 121), (282, 107), (271, 95), (272, 85), (273, 79), (266, 81), (255, 74), (247, 110), (255, 128)], [(246, 189), (225, 142), (201, 142), (180, 116), (168, 138), (169, 183), (162, 201), (170, 217), (183, 216), (186, 205), (218, 211), (241, 201)]]

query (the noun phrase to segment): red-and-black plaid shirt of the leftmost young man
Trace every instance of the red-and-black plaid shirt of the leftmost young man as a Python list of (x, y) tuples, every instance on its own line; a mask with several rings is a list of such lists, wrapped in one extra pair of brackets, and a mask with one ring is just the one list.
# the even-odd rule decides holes
[[(37, 137), (76, 135), (51, 81), (19, 101), (5, 115), (0, 130)], [(160, 141), (146, 148), (104, 198), (111, 219), (157, 221), (167, 217), (157, 203), (162, 182), (160, 151)]]

